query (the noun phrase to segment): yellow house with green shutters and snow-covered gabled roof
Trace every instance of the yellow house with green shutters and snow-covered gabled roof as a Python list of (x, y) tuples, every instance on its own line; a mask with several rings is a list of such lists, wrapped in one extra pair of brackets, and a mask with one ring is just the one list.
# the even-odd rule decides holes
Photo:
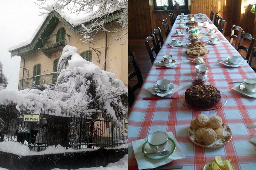
[[(57, 64), (65, 45), (75, 46), (80, 56), (104, 69), (117, 73), (116, 78), (128, 84), (128, 38), (116, 41), (118, 35), (127, 30), (120, 30), (116, 23), (118, 12), (113, 12), (105, 20), (105, 28), (113, 30), (106, 35), (99, 31), (90, 42), (82, 42), (84, 26), (91, 24), (88, 16), (74, 16), (69, 12), (51, 12), (45, 16), (42, 25), (38, 26), (30, 40), (15, 45), (9, 49), (11, 57), (21, 56), (18, 90), (26, 88), (43, 89), (44, 84), (57, 82)], [(120, 30), (116, 32), (116, 30)], [(107, 46), (106, 46), (107, 41)], [(113, 69), (112, 69), (113, 67)]]

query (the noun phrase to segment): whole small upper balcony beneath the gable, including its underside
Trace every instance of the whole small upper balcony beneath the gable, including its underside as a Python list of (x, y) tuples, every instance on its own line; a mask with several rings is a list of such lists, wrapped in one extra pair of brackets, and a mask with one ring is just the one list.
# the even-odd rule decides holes
[(64, 32), (59, 32), (42, 39), (41, 50), (47, 57), (50, 58), (53, 53), (61, 51), (65, 45), (69, 44), (69, 41), (70, 35)]

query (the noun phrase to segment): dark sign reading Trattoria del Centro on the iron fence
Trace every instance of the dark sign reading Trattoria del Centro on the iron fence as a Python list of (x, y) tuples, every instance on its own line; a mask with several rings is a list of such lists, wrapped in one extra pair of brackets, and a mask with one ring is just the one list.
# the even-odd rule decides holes
[(48, 146), (69, 146), (69, 118), (49, 115)]

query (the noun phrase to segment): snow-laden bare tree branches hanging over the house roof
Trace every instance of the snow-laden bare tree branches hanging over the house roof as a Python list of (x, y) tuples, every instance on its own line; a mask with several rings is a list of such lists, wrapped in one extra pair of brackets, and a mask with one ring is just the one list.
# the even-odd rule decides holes
[[(70, 14), (78, 17), (81, 14), (90, 14), (90, 18), (94, 18), (89, 26), (81, 25), (84, 28), (83, 42), (90, 42), (98, 31), (106, 34), (120, 32), (126, 30), (126, 33), (118, 35), (116, 41), (127, 36), (128, 33), (128, 0), (36, 0), (35, 2), (40, 8), (42, 14), (48, 14), (52, 11), (62, 13), (68, 11)], [(119, 19), (117, 23), (121, 28), (118, 30), (110, 30), (105, 27), (105, 19), (113, 12), (118, 13)]]

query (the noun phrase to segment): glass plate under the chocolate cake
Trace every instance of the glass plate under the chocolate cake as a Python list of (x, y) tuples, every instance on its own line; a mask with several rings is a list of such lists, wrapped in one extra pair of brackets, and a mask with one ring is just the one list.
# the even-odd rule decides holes
[(220, 100), (217, 104), (215, 104), (215, 106), (213, 107), (209, 107), (209, 108), (199, 108), (199, 107), (195, 107), (195, 106), (192, 106), (191, 104), (188, 104), (185, 100), (185, 92), (184, 91), (181, 95), (180, 95), (180, 102), (183, 106), (189, 108), (189, 109), (192, 109), (192, 110), (196, 110), (196, 111), (213, 111), (215, 109), (219, 109), (219, 108), (222, 108), (227, 102), (228, 102), (228, 98), (227, 96), (222, 92), (220, 91)]

